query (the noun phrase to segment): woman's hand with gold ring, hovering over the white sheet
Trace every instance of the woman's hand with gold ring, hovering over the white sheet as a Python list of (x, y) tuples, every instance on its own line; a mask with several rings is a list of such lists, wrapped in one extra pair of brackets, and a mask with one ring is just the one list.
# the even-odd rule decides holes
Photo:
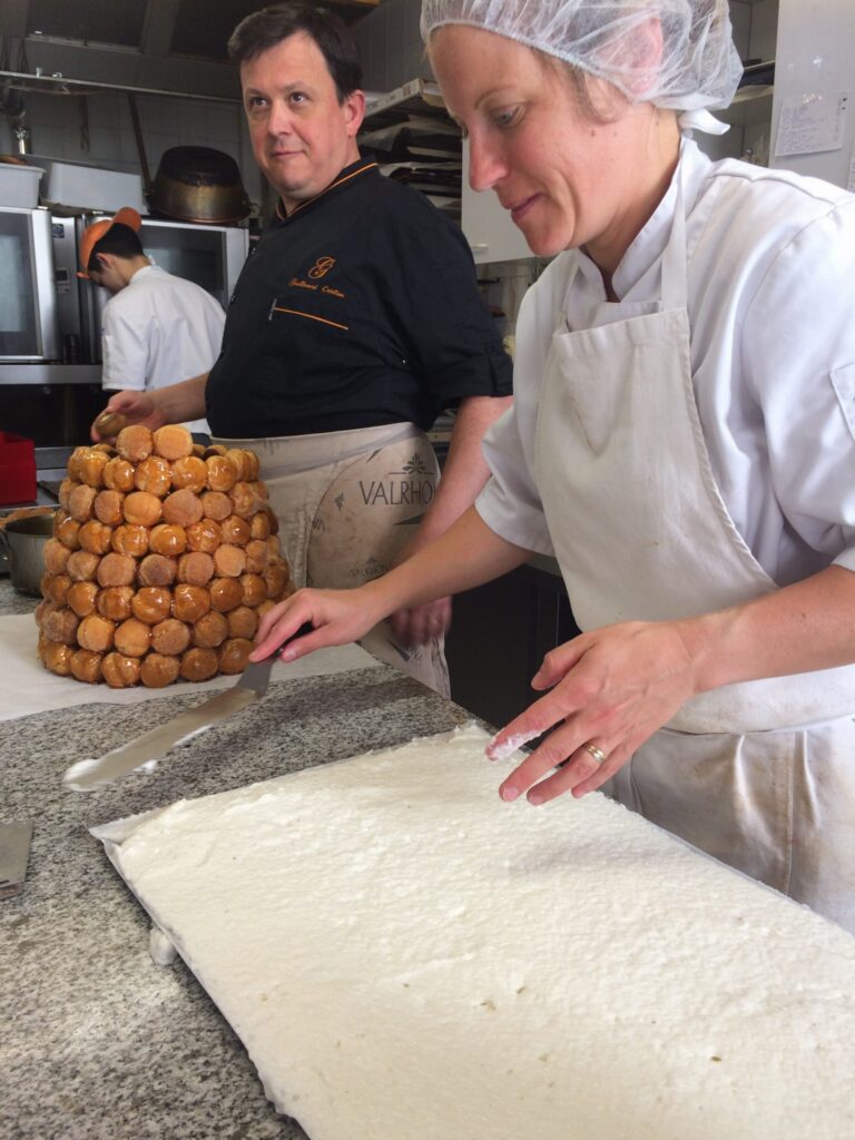
[(687, 626), (626, 621), (547, 653), (531, 684), (551, 692), (505, 725), (487, 749), (497, 759), (553, 728), (503, 782), (502, 798), (516, 799), (527, 790), (530, 804), (567, 791), (578, 798), (613, 776), (699, 691)]

